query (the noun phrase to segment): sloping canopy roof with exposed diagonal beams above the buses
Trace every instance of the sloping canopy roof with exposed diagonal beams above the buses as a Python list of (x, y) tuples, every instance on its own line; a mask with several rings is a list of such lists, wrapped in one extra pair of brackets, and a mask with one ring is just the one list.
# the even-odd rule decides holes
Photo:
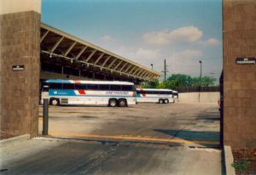
[(52, 65), (61, 65), (93, 71), (107, 76), (152, 82), (161, 76), (143, 65), (113, 54), (89, 42), (41, 23), (40, 59)]

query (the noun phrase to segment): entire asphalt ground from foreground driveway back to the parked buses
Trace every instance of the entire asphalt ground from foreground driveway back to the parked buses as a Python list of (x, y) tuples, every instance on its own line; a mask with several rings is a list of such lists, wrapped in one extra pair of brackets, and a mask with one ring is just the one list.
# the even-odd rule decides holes
[(1, 173), (224, 174), (217, 104), (50, 107), (49, 133), (1, 145)]

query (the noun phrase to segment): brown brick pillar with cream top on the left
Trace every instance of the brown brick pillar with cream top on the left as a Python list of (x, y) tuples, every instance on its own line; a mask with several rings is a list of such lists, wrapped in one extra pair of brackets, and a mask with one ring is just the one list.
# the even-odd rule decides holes
[[(13, 8), (15, 4), (15, 8)], [(1, 0), (1, 132), (38, 135), (41, 0)], [(24, 65), (24, 71), (13, 71)]]

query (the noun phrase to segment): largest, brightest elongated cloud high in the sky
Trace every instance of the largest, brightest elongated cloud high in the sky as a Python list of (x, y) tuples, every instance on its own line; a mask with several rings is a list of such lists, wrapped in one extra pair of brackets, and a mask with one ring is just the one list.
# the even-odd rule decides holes
[(143, 41), (148, 44), (168, 45), (173, 42), (196, 42), (202, 37), (202, 31), (197, 27), (182, 27), (170, 33), (168, 31), (153, 31), (143, 35)]

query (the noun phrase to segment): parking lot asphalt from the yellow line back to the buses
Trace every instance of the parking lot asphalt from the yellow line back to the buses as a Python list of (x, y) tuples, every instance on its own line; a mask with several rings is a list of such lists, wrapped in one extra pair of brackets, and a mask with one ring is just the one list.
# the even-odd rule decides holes
[[(40, 107), (39, 116), (42, 111)], [(42, 118), (39, 120), (42, 133)], [(218, 104), (49, 106), (49, 137), (218, 148)]]

